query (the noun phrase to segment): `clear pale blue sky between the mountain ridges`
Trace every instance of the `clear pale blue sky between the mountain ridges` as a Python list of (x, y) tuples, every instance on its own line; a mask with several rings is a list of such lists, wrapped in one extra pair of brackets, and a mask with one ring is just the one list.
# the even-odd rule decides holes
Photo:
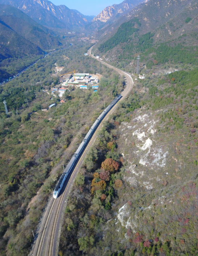
[(76, 9), (84, 15), (97, 15), (105, 7), (120, 4), (123, 0), (50, 0), (55, 5), (64, 4), (69, 9)]

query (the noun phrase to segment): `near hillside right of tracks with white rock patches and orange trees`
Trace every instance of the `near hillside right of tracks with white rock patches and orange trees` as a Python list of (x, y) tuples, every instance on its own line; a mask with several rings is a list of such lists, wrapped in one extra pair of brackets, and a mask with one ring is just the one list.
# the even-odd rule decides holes
[(135, 82), (76, 177), (60, 256), (197, 255), (197, 74)]

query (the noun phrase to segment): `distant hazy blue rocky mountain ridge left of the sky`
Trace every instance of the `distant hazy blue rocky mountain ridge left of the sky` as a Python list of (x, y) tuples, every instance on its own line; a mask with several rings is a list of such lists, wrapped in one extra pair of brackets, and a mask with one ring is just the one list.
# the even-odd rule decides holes
[(82, 14), (70, 10), (65, 5), (56, 6), (47, 0), (0, 0), (0, 4), (12, 5), (39, 24), (51, 28), (73, 29), (88, 23)]

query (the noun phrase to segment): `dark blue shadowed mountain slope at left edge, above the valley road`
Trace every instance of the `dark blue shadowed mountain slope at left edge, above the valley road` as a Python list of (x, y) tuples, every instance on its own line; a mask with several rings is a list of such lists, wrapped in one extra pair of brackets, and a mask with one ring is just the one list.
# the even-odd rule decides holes
[(10, 5), (0, 4), (0, 82), (61, 43), (54, 32)]

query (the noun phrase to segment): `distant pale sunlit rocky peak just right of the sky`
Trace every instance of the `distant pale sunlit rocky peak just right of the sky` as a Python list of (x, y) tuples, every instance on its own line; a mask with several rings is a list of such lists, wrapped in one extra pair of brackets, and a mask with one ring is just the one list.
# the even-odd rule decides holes
[(138, 4), (146, 3), (148, 0), (125, 0), (121, 4), (114, 4), (112, 6), (106, 7), (101, 13), (99, 13), (93, 20), (107, 22), (113, 16), (121, 16), (127, 11), (130, 11)]

